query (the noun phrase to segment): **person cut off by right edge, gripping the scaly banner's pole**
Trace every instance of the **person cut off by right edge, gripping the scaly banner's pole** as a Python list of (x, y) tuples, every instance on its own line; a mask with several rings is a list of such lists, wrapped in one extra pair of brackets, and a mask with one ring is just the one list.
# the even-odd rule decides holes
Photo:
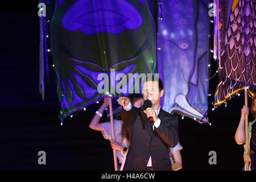
[[(235, 140), (236, 140), (237, 144), (243, 144), (246, 141), (245, 117), (246, 117), (246, 114), (249, 114), (249, 111), (250, 111), (250, 109), (246, 105), (244, 105), (243, 108), (241, 109), (240, 123), (237, 127), (237, 131), (236, 131), (236, 134), (235, 134)], [(248, 125), (249, 140), (250, 140), (251, 135), (253, 135), (253, 133), (251, 133), (252, 126), (256, 121), (256, 97), (253, 98), (253, 101), (251, 103), (251, 114), (254, 117), (254, 121), (249, 122), (249, 125)], [(255, 135), (255, 133), (254, 133), (254, 135)], [(243, 145), (243, 147), (245, 147), (245, 144)], [(245, 152), (243, 154), (243, 160), (244, 160), (245, 163), (251, 163), (250, 154)], [(249, 165), (249, 169), (247, 169), (247, 171), (250, 171), (250, 169), (251, 169), (250, 166), (251, 165)], [(243, 168), (243, 170), (245, 170), (245, 167)]]

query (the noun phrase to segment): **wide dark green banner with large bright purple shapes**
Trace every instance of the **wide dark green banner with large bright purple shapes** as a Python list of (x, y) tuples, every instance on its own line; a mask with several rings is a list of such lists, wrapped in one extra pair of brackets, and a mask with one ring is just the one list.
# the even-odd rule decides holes
[[(46, 2), (47, 28), (60, 119), (105, 94), (127, 96), (122, 89), (134, 89), (128, 81), (156, 72), (155, 23), (146, 0), (52, 2)], [(137, 75), (122, 79), (129, 73)]]

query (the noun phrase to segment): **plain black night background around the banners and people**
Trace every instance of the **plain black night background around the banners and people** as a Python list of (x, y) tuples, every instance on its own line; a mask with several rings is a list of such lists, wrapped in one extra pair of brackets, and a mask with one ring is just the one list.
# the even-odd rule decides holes
[[(38, 1), (1, 6), (0, 170), (113, 170), (109, 141), (88, 127), (102, 101), (68, 117), (61, 126), (51, 66), (45, 101), (42, 100), (37, 6)], [(217, 63), (211, 60), (211, 64), (213, 76)], [(234, 134), (244, 95), (228, 101), (227, 107), (223, 105), (212, 111), (217, 81), (216, 75), (209, 82), (212, 96), (209, 96), (208, 117), (212, 126), (180, 118), (183, 171), (243, 168), (243, 146), (236, 144)], [(41, 150), (46, 151), (46, 165), (38, 164)], [(209, 151), (217, 152), (217, 165), (209, 165)]]

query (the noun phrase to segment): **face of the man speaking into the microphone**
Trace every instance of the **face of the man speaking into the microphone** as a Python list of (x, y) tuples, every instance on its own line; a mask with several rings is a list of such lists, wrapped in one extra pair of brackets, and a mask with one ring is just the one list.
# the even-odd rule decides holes
[(150, 100), (152, 106), (160, 104), (160, 98), (163, 96), (164, 90), (159, 92), (157, 81), (146, 81), (143, 84), (142, 93), (144, 100)]

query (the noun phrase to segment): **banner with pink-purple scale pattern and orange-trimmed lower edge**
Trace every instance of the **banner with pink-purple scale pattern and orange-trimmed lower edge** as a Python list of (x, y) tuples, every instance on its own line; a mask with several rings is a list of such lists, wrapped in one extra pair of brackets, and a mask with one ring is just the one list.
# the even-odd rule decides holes
[(248, 89), (256, 92), (256, 4), (254, 0), (216, 0), (214, 55), (218, 60), (218, 86), (214, 106)]

